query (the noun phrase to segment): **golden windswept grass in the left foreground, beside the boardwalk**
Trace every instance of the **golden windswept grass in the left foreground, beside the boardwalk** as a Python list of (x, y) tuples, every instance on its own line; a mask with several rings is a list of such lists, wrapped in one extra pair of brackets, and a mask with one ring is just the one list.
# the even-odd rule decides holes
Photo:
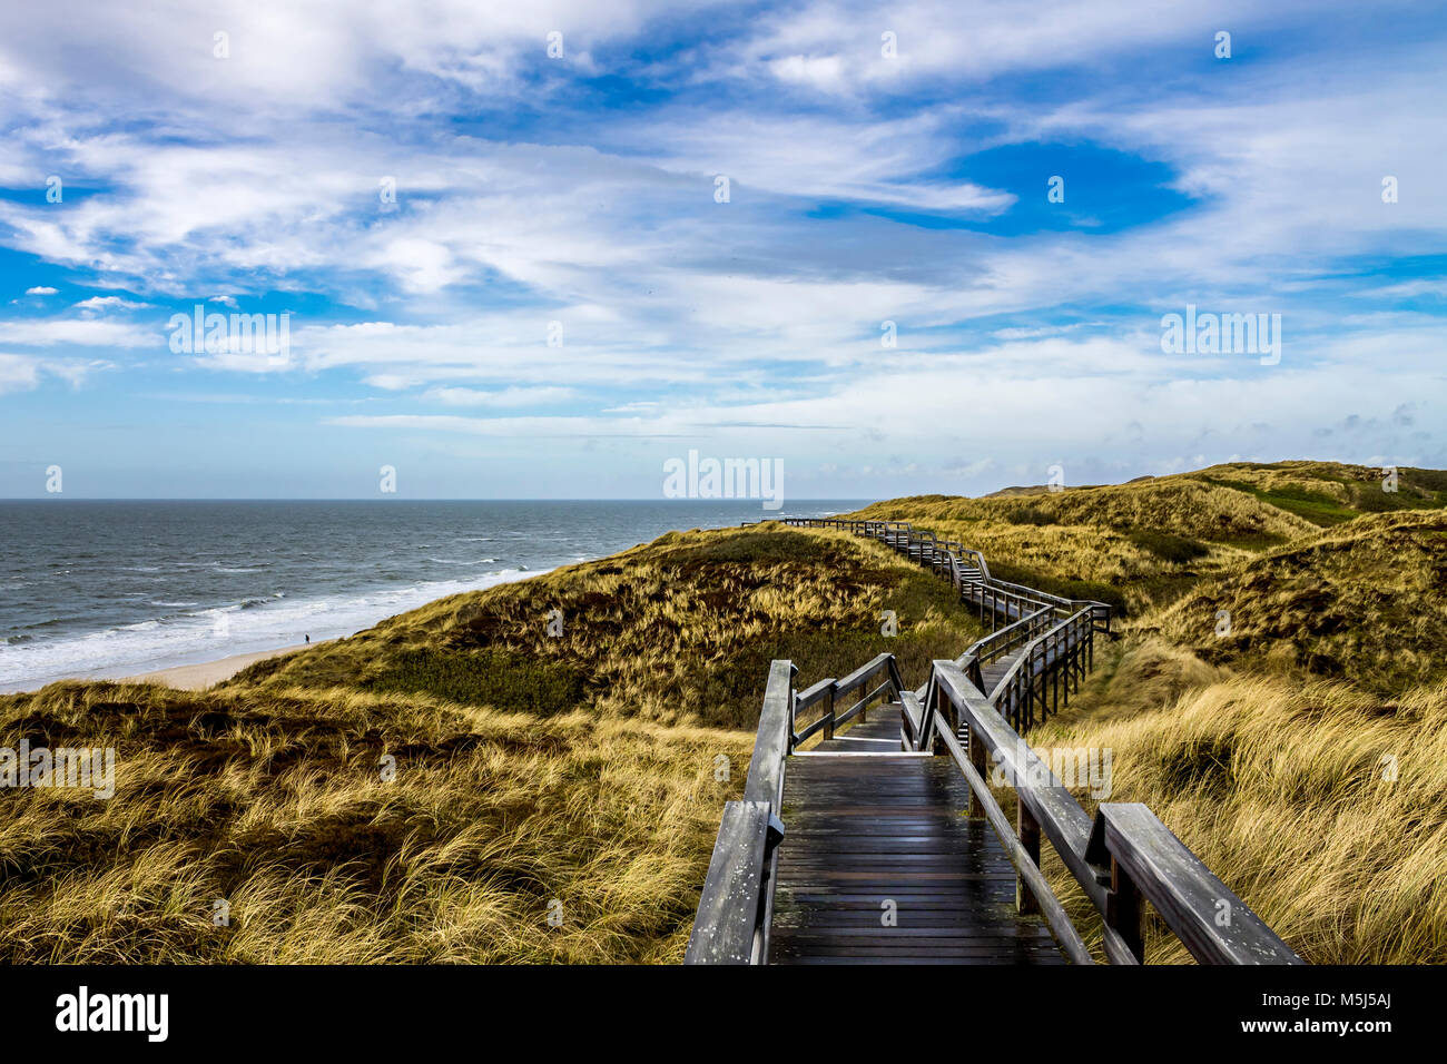
[(7, 798), (6, 963), (676, 961), (752, 746), (301, 689), (52, 685), (4, 709), (0, 744), (119, 760), (110, 801)]

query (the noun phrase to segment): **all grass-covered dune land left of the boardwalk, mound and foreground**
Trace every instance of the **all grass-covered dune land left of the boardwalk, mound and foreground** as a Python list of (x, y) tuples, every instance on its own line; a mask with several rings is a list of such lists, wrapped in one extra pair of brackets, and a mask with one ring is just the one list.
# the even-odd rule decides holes
[(913, 676), (977, 634), (878, 544), (765, 525), (447, 598), (208, 692), (4, 696), (0, 746), (117, 767), (109, 801), (4, 793), (0, 960), (677, 961), (768, 660), (812, 682), (888, 649)]

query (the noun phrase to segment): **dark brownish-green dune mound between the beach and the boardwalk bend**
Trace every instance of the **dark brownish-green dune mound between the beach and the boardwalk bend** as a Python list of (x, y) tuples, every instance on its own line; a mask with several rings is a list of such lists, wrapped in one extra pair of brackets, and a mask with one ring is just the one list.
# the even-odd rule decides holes
[[(560, 637), (548, 636), (554, 609)], [(880, 631), (884, 609), (897, 615), (897, 637)], [(813, 682), (890, 651), (923, 682), (932, 659), (958, 654), (978, 634), (941, 580), (881, 544), (767, 524), (669, 533), (599, 562), (438, 599), (258, 663), (236, 683), (433, 691), (543, 715), (587, 705), (609, 717), (752, 728), (776, 657)], [(469, 677), (469, 659), (488, 667)]]

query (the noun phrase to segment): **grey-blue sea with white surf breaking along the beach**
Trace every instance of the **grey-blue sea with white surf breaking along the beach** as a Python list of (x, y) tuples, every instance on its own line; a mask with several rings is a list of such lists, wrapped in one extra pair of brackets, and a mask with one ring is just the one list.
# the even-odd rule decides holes
[(0, 693), (350, 636), (670, 530), (864, 499), (0, 499)]

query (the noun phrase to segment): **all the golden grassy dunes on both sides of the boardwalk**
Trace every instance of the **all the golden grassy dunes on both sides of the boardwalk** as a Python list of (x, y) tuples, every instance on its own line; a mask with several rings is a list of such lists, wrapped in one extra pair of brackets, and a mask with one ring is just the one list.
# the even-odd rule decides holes
[[(1310, 960), (1447, 963), (1447, 475), (1399, 481), (1231, 465), (864, 512), (1126, 608), (1030, 741), (1110, 748), (1111, 801), (1147, 802)], [(880, 544), (764, 524), (441, 599), (203, 693), (0, 698), (0, 747), (117, 751), (111, 801), (4, 793), (0, 961), (677, 961), (768, 662), (806, 685), (888, 650), (919, 683), (980, 634)]]

